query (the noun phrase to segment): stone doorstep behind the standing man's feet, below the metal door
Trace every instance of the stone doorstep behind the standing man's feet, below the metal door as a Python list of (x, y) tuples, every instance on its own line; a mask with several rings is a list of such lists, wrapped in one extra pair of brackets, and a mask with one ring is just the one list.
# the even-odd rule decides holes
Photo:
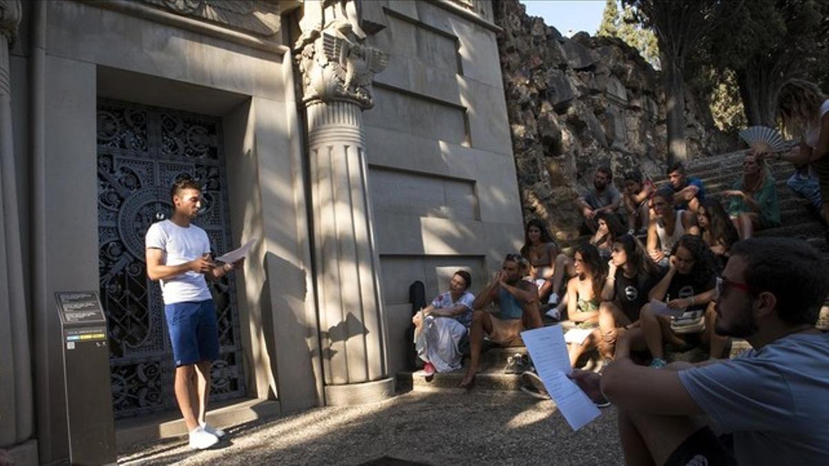
[[(282, 412), (279, 400), (254, 399), (216, 405), (207, 412), (207, 421), (222, 428)], [(187, 434), (187, 426), (177, 410), (115, 421), (115, 445), (119, 452), (133, 444), (184, 434)]]

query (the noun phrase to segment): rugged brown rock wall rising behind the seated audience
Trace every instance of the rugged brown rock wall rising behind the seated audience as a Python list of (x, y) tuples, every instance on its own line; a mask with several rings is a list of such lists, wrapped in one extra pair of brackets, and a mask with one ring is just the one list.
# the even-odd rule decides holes
[[(573, 200), (599, 165), (622, 174), (665, 171), (664, 96), (658, 72), (617, 38), (562, 36), (517, 0), (496, 0), (498, 36), (518, 185), (527, 220), (548, 222), (561, 240), (580, 217)], [(727, 149), (704, 100), (686, 95), (692, 157)]]

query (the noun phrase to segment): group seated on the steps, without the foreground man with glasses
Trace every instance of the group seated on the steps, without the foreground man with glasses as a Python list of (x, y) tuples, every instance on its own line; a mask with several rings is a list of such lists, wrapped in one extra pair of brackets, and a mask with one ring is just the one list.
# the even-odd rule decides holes
[[(543, 221), (532, 219), (520, 254), (507, 255), (477, 297), (468, 291), (472, 276), (458, 270), (449, 291), (412, 318), (424, 371), (459, 370), (468, 352), (461, 386), (469, 386), (485, 340), (520, 345), (521, 331), (541, 327), (545, 318), (574, 326), (565, 335), (573, 366), (594, 350), (608, 365), (619, 329), (633, 328), (654, 367), (667, 365), (666, 344), (677, 351), (703, 345), (710, 358), (724, 357), (726, 340), (713, 331), (715, 279), (735, 243), (780, 226), (767, 160), (755, 149), (744, 155), (743, 175), (722, 193), (725, 203), (705, 197), (703, 182), (687, 176), (681, 163), (667, 169), (659, 188), (641, 172), (626, 173), (623, 194), (613, 187), (613, 172), (599, 167), (593, 189), (575, 201), (589, 240), (571, 255)], [(485, 310), (492, 304), (497, 313)]]

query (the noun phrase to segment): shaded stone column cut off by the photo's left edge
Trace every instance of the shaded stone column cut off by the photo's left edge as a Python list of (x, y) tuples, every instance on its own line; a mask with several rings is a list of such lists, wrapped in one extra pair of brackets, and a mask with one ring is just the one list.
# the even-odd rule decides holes
[(20, 15), (19, 0), (0, 0), (0, 448), (31, 437), (34, 421), (8, 59)]

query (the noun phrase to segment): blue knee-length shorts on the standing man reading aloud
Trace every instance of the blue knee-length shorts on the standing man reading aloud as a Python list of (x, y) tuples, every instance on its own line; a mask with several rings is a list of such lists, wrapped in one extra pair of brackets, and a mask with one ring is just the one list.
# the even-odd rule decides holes
[(219, 359), (219, 325), (212, 299), (164, 305), (176, 366)]

